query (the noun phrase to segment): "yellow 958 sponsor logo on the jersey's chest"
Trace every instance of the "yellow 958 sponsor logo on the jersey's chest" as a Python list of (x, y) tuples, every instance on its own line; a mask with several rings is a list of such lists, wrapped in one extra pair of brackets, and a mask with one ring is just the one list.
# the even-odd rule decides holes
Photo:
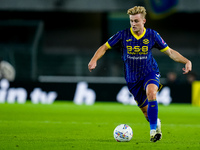
[(147, 55), (148, 54), (148, 46), (126, 46), (128, 54), (139, 54), (139, 55)]

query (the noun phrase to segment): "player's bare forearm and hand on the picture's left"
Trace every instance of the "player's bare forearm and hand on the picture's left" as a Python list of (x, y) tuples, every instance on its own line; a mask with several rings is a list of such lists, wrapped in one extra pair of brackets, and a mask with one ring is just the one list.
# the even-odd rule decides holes
[(94, 56), (92, 57), (92, 59), (88, 64), (88, 69), (90, 72), (92, 72), (92, 70), (96, 68), (97, 60), (99, 60), (106, 53), (108, 49), (109, 48), (107, 47), (106, 43), (103, 44), (101, 47), (99, 47), (99, 49), (96, 51), (96, 53), (94, 54)]

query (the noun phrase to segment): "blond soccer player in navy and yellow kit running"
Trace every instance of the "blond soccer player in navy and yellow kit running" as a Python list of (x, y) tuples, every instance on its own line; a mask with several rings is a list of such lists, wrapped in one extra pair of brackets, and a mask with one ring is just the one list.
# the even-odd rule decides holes
[(192, 70), (192, 63), (170, 48), (155, 30), (144, 27), (146, 23), (146, 9), (144, 7), (130, 8), (127, 14), (130, 18), (131, 28), (117, 32), (103, 44), (89, 62), (88, 69), (89, 71), (95, 69), (97, 60), (108, 49), (116, 45), (120, 46), (127, 86), (149, 121), (150, 141), (156, 142), (162, 138), (156, 100), (156, 93), (160, 88), (160, 73), (151, 50), (157, 48), (174, 61), (185, 64), (183, 74)]

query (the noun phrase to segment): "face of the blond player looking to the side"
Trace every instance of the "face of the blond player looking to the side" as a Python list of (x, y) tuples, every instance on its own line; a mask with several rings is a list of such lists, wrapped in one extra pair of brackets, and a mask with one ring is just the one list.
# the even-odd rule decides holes
[(129, 18), (133, 32), (135, 33), (143, 32), (146, 19), (144, 19), (144, 17), (141, 14), (129, 15)]

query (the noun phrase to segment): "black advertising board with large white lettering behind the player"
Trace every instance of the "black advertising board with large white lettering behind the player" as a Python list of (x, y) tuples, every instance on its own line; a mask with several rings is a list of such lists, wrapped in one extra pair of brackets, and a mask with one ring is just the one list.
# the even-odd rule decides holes
[[(184, 93), (184, 94), (183, 94)], [(20, 103), (30, 100), (33, 104), (52, 104), (56, 101), (74, 101), (75, 104), (93, 105), (96, 101), (120, 102), (137, 105), (125, 84), (88, 83), (41, 83), (0, 81), (0, 103)], [(163, 105), (191, 103), (191, 86), (168, 85), (157, 94)]]

